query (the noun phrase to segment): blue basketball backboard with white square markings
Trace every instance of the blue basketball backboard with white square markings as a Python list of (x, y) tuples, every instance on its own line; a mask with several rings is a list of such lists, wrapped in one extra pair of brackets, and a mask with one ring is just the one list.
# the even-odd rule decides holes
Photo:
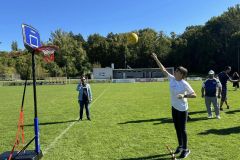
[(30, 25), (22, 24), (22, 35), (24, 46), (32, 51), (35, 48), (41, 47), (39, 32)]

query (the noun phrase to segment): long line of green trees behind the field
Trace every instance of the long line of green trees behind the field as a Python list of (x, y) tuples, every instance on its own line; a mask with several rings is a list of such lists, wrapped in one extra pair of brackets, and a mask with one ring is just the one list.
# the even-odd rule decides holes
[[(182, 34), (167, 35), (151, 28), (131, 32), (138, 35), (137, 44), (128, 44), (128, 33), (96, 33), (85, 40), (80, 33), (58, 29), (51, 33), (48, 42), (42, 42), (59, 46), (55, 61), (45, 63), (41, 55), (37, 56), (37, 75), (75, 77), (111, 63), (115, 68), (157, 67), (150, 57), (152, 52), (165, 66), (182, 65), (192, 74), (206, 74), (210, 69), (220, 72), (226, 65), (239, 71), (240, 5), (228, 8), (204, 25), (188, 26)], [(11, 52), (0, 52), (0, 75), (18, 73), (24, 78), (31, 54), (19, 50), (16, 41), (11, 47)]]

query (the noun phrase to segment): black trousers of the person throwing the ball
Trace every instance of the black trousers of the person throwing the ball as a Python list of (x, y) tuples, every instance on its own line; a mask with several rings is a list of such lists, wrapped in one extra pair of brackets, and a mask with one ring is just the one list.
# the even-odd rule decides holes
[(183, 149), (187, 149), (187, 123), (188, 111), (178, 111), (172, 107), (172, 118), (176, 129), (178, 144), (182, 146)]

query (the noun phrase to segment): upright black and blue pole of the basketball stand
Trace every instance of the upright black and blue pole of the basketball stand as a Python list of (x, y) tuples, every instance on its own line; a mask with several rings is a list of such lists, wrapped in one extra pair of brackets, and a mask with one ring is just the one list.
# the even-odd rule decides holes
[(32, 51), (32, 76), (33, 76), (33, 99), (34, 99), (34, 132), (35, 132), (35, 152), (39, 154), (40, 143), (39, 143), (39, 126), (37, 117), (37, 92), (36, 92), (36, 76), (35, 76), (35, 52)]

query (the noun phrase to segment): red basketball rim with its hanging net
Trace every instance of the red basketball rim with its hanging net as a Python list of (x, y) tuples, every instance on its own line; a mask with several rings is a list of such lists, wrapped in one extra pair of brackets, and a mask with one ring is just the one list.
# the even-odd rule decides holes
[(54, 61), (54, 52), (59, 48), (54, 45), (41, 46), (34, 49), (35, 53), (43, 53), (43, 59), (45, 62)]

